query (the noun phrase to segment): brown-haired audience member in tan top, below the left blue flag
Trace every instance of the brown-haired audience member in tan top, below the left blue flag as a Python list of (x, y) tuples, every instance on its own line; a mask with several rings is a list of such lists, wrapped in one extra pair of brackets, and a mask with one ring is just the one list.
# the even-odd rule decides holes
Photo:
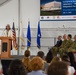
[(22, 62), (25, 65), (27, 72), (30, 72), (31, 68), (30, 68), (30, 51), (29, 50), (25, 51), (24, 58), (22, 59)]

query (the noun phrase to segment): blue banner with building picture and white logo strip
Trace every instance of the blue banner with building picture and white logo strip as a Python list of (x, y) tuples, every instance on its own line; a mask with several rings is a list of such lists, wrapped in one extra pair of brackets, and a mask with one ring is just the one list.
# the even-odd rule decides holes
[(40, 0), (40, 19), (76, 19), (76, 0)]

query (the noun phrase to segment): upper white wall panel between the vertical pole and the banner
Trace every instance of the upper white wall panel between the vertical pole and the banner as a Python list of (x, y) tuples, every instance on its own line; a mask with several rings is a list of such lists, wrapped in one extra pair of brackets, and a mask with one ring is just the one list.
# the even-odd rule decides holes
[(31, 28), (37, 28), (37, 22), (40, 19), (40, 0), (21, 0), (21, 18), (24, 28), (27, 28), (28, 19), (31, 22)]

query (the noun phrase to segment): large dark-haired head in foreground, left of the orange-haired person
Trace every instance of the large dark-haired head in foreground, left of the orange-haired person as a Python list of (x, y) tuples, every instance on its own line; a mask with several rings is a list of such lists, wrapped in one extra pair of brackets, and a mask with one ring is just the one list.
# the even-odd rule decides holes
[(27, 75), (22, 61), (18, 59), (13, 60), (9, 66), (8, 75)]

